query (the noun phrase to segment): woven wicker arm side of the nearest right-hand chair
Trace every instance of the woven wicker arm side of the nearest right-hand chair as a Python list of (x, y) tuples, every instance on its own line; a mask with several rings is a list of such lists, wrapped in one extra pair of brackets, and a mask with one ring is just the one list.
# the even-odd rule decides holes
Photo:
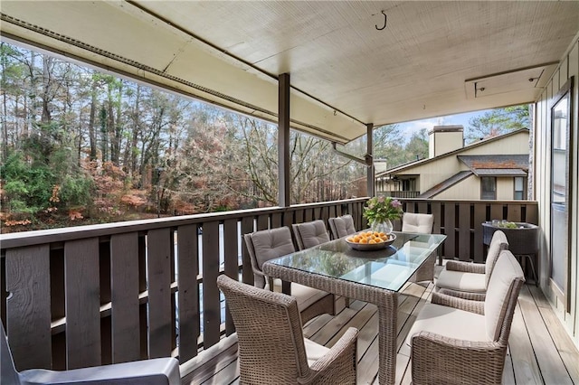
[(413, 384), (500, 384), (507, 346), (422, 332), (413, 336)]

